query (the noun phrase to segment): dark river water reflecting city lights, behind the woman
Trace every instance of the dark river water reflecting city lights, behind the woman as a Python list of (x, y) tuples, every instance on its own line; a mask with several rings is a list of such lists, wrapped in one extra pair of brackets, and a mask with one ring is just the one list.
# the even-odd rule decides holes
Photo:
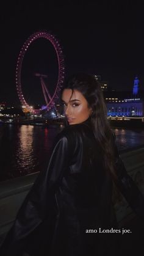
[[(62, 128), (0, 125), (0, 181), (46, 169), (54, 137)], [(120, 151), (144, 145), (144, 130), (113, 131)]]

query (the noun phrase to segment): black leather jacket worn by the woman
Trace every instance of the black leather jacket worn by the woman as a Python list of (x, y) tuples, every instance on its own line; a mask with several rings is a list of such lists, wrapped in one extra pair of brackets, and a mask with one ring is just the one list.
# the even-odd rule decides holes
[[(117, 186), (143, 218), (143, 196), (126, 172), (115, 134), (113, 145)], [(112, 179), (104, 170), (88, 119), (57, 135), (48, 169), (40, 172), (24, 200), (1, 247), (1, 255), (20, 256), (22, 251), (31, 255), (81, 255), (87, 243), (85, 230), (99, 227), (118, 228), (112, 206)], [(84, 251), (81, 253), (84, 255)]]

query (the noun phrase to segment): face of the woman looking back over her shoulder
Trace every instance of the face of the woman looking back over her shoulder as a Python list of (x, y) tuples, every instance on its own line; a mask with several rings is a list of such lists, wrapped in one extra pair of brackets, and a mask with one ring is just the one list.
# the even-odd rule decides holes
[(74, 125), (75, 123), (82, 123), (88, 119), (92, 112), (92, 108), (88, 108), (88, 103), (85, 97), (78, 90), (64, 89), (62, 93), (62, 101), (64, 104), (64, 111), (68, 123)]

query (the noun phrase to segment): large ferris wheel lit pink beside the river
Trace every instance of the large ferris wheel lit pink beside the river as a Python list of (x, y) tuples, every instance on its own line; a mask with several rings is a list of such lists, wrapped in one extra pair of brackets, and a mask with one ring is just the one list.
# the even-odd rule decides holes
[(18, 56), (18, 61), (16, 64), (16, 89), (17, 89), (18, 97), (21, 101), (21, 104), (29, 112), (32, 112), (33, 114), (39, 114), (42, 111), (42, 108), (32, 109), (32, 107), (29, 106), (29, 104), (25, 100), (23, 91), (22, 91), (22, 86), (21, 86), (21, 70), (22, 70), (24, 55), (26, 54), (27, 49), (38, 38), (46, 38), (46, 40), (49, 40), (49, 42), (52, 44), (52, 46), (54, 47), (54, 49), (56, 51), (57, 60), (58, 60), (58, 68), (59, 68), (58, 78), (57, 78), (57, 82), (54, 86), (54, 93), (52, 95), (49, 93), (49, 90), (46, 87), (44, 80), (43, 80), (43, 78), (46, 76), (39, 74), (39, 73), (35, 73), (36, 76), (40, 77), (41, 89), (42, 89), (43, 96), (46, 101), (46, 109), (47, 110), (49, 110), (53, 106), (55, 106), (55, 101), (59, 98), (59, 92), (61, 90), (62, 83), (64, 80), (64, 75), (65, 75), (65, 67), (64, 67), (64, 59), (63, 59), (62, 49), (60, 47), (59, 42), (54, 37), (54, 35), (49, 34), (48, 32), (43, 32), (43, 31), (35, 32), (34, 34), (32, 34), (24, 43), (23, 47), (21, 48), (20, 54)]

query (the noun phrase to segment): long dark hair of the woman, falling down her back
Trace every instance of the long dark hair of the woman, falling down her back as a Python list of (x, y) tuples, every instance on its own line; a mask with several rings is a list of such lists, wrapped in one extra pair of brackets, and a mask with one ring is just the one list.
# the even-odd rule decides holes
[[(108, 174), (112, 176), (114, 192), (118, 197), (117, 188), (115, 186), (117, 175), (114, 164), (114, 148), (112, 146), (113, 131), (110, 128), (109, 121), (107, 120), (107, 108), (104, 103), (103, 92), (99, 82), (96, 81), (93, 75), (77, 73), (65, 81), (62, 92), (64, 89), (71, 89), (71, 96), (73, 95), (74, 89), (81, 92), (87, 100), (88, 108), (92, 108), (90, 122), (93, 134), (95, 135), (96, 142), (101, 149), (104, 167)], [(67, 123), (67, 120), (65, 120), (65, 123)]]

